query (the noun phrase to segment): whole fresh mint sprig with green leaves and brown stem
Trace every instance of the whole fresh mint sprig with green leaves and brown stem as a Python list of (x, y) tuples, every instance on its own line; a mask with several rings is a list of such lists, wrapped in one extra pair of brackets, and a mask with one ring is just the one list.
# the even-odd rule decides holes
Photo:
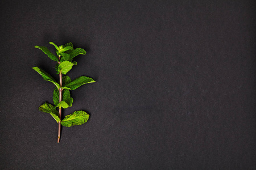
[[(63, 120), (61, 120), (61, 108), (66, 109), (72, 106), (73, 98), (70, 96), (69, 90), (75, 90), (76, 88), (82, 86), (83, 84), (93, 83), (95, 82), (92, 78), (86, 76), (80, 76), (74, 80), (71, 80), (69, 76), (65, 75), (69, 70), (72, 69), (74, 65), (77, 65), (73, 58), (79, 54), (86, 54), (84, 49), (76, 48), (73, 49), (73, 44), (71, 42), (57, 46), (53, 42), (49, 42), (56, 48), (56, 54), (52, 54), (48, 48), (45, 46), (35, 46), (35, 48), (39, 48), (42, 50), (49, 58), (53, 61), (56, 61), (57, 64), (55, 66), (56, 74), (59, 74), (60, 81), (56, 82), (51, 75), (46, 73), (46, 71), (40, 69), (39, 67), (33, 67), (36, 72), (43, 76), (44, 80), (52, 82), (56, 87), (53, 90), (53, 104), (44, 103), (39, 107), (39, 111), (46, 112), (51, 114), (51, 116), (56, 120), (57, 124), (59, 124), (58, 131), (58, 139), (57, 143), (60, 142), (60, 129), (61, 125), (70, 127), (74, 125), (82, 125), (87, 122), (89, 118), (89, 114), (84, 111), (76, 111), (72, 114), (66, 116)], [(64, 74), (65, 76), (62, 76)], [(59, 112), (56, 108), (59, 107)]]

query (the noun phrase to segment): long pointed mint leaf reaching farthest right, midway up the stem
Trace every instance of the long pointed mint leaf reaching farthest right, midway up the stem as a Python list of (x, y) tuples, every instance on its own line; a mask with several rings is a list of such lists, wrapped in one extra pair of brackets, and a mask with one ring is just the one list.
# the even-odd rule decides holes
[(79, 78), (72, 80), (70, 83), (65, 84), (62, 88), (75, 90), (76, 88), (82, 86), (83, 84), (94, 83), (94, 82), (95, 81), (92, 78), (89, 78), (87, 76), (80, 76)]

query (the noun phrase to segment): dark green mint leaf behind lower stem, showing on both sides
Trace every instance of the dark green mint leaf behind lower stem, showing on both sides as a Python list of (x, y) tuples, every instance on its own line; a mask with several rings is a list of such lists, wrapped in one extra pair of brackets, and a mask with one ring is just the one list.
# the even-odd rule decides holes
[[(68, 104), (69, 107), (72, 107), (72, 103), (73, 103), (73, 98), (70, 97), (70, 92), (69, 90), (67, 89), (64, 89), (62, 91), (62, 94), (63, 94), (63, 101), (65, 101), (65, 103)], [(59, 89), (57, 87), (55, 87), (54, 91), (53, 91), (53, 103), (54, 105), (59, 105), (59, 101), (60, 101), (60, 92), (59, 92)]]

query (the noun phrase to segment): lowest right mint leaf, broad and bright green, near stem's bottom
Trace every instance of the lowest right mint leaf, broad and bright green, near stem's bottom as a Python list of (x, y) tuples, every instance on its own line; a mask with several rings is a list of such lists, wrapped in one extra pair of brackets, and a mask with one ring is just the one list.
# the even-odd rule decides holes
[(76, 111), (66, 116), (60, 124), (66, 127), (82, 125), (89, 119), (89, 114), (84, 111)]

